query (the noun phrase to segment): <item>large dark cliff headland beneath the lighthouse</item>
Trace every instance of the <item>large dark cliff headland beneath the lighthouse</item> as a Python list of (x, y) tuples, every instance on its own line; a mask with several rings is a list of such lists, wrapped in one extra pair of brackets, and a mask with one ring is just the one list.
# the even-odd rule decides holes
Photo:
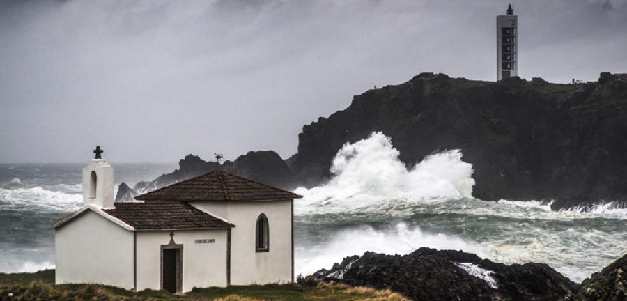
[(347, 109), (305, 125), (288, 163), (304, 185), (318, 185), (343, 144), (380, 131), (408, 167), (434, 151), (461, 149), (473, 164), (479, 199), (626, 206), (626, 105), (627, 75), (550, 84), (423, 73), (355, 96)]

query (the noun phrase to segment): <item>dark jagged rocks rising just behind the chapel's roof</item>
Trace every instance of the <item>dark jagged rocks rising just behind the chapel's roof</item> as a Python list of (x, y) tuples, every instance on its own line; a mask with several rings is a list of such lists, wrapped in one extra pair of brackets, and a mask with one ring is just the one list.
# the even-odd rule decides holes
[(132, 189), (126, 183), (122, 183), (118, 187), (116, 202), (132, 201), (134, 196), (139, 194), (217, 169), (286, 190), (291, 190), (297, 185), (294, 173), (274, 151), (251, 151), (246, 155), (240, 155), (233, 162), (227, 160), (222, 164), (206, 162), (196, 155), (187, 155), (179, 160), (178, 166), (175, 171), (149, 182), (139, 182)]

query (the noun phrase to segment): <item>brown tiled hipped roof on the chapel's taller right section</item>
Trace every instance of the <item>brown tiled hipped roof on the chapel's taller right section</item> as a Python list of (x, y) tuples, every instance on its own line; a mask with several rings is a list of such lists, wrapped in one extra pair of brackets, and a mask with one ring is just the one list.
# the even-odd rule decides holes
[(135, 196), (135, 199), (144, 201), (272, 201), (298, 198), (302, 196), (226, 171), (212, 171)]

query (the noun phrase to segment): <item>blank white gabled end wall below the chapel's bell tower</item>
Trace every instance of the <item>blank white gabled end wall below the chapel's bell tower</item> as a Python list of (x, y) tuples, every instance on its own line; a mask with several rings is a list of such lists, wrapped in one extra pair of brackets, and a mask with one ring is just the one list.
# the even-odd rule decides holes
[(96, 283), (133, 288), (133, 233), (91, 210), (54, 235), (56, 284)]

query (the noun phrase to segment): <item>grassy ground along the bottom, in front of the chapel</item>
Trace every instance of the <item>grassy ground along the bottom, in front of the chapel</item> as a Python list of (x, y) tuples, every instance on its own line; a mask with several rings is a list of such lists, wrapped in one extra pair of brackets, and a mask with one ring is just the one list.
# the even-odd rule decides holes
[(299, 284), (268, 284), (264, 286), (229, 286), (227, 288), (194, 288), (183, 295), (164, 291), (127, 291), (113, 286), (96, 284), (54, 285), (54, 270), (35, 273), (0, 273), (0, 300), (370, 300), (407, 301), (398, 293), (376, 291), (372, 288), (350, 287), (302, 280)]

